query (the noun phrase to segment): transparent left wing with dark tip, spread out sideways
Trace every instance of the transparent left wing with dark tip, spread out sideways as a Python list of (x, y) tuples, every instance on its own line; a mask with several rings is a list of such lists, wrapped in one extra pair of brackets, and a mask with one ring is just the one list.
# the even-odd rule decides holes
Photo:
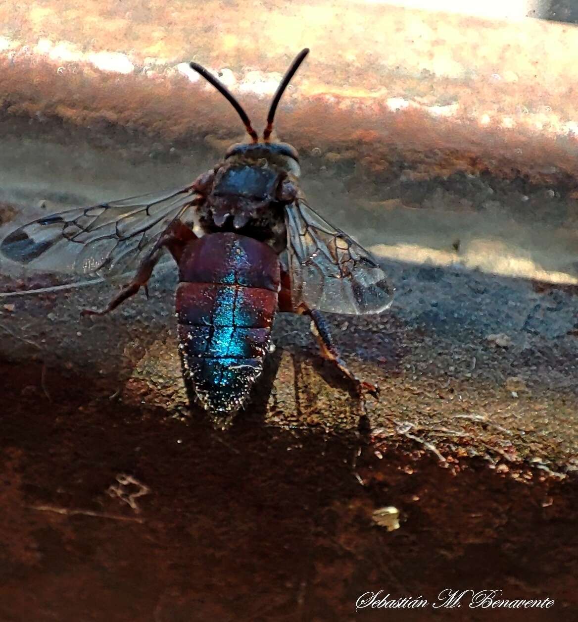
[(196, 196), (186, 187), (60, 211), (12, 231), (0, 252), (21, 264), (56, 256), (76, 274), (115, 276), (133, 269)]

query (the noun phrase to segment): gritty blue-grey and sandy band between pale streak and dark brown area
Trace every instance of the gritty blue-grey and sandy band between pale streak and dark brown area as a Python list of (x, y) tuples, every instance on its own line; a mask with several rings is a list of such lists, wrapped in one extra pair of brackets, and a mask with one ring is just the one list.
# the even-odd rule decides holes
[[(397, 285), (391, 312), (331, 317), (352, 368), (382, 389), (378, 401), (365, 404), (378, 435), (414, 435), (423, 451), (477, 455), (503, 463), (502, 470), (525, 461), (545, 471), (577, 468), (572, 291), (456, 269), (386, 267)], [(148, 302), (139, 297), (96, 320), (79, 318), (80, 310), (102, 306), (115, 290), (110, 285), (6, 298), (2, 352), (43, 361), (49, 394), (50, 370), (68, 368), (99, 378), (105, 393), (120, 391), (121, 403), (184, 414), (175, 279), (167, 264)], [(321, 363), (307, 328), (303, 318), (278, 317), (278, 350), (249, 413), (257, 408), (265, 424), (280, 427), (356, 429), (359, 403)], [(87, 389), (87, 400), (99, 397)]]

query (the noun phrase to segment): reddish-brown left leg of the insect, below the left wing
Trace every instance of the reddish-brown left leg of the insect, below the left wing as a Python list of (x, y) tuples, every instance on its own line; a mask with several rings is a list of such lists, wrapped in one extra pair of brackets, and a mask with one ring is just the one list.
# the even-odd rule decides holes
[(134, 296), (141, 287), (144, 287), (147, 298), (149, 297), (149, 288), (147, 283), (154, 267), (157, 265), (160, 256), (162, 255), (163, 248), (168, 248), (175, 261), (180, 260), (183, 248), (185, 245), (197, 236), (188, 226), (181, 223), (180, 220), (175, 220), (172, 225), (167, 228), (167, 231), (162, 234), (162, 237), (158, 240), (155, 246), (147, 253), (139, 264), (134, 279), (130, 283), (124, 285), (121, 291), (109, 302), (106, 309), (100, 311), (94, 309), (84, 309), (80, 315), (106, 315), (113, 309), (116, 309), (127, 298)]

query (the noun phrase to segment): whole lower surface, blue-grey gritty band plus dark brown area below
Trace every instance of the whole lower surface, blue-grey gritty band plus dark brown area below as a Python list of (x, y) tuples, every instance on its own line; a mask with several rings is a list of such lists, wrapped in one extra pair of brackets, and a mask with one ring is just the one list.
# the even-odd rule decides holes
[[(368, 590), (448, 587), (556, 604), (395, 619), (575, 620), (578, 300), (387, 269), (388, 315), (332, 318), (382, 389), (369, 436), (302, 318), (279, 318), (252, 403), (222, 430), (187, 403), (172, 272), (98, 321), (78, 310), (108, 286), (6, 299), (2, 620), (353, 620)], [(372, 519), (388, 506), (392, 532)]]

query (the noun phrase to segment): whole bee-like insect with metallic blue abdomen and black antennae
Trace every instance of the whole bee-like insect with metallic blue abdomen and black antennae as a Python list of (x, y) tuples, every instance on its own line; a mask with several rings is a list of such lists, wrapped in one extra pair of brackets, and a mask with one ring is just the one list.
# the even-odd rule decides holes
[(179, 273), (183, 375), (210, 412), (244, 406), (274, 347), (277, 311), (307, 315), (323, 357), (359, 392), (377, 392), (342, 361), (322, 313), (379, 313), (391, 304), (392, 288), (368, 251), (308, 205), (296, 149), (272, 140), (278, 103), (308, 52), (296, 56), (278, 86), (262, 139), (226, 86), (190, 63), (232, 104), (249, 141), (231, 146), (222, 162), (185, 188), (61, 211), (13, 231), (0, 246), (22, 264), (67, 246), (81, 274), (135, 269), (106, 309), (84, 315), (105, 315), (140, 288), (148, 294), (155, 264), (168, 251)]

